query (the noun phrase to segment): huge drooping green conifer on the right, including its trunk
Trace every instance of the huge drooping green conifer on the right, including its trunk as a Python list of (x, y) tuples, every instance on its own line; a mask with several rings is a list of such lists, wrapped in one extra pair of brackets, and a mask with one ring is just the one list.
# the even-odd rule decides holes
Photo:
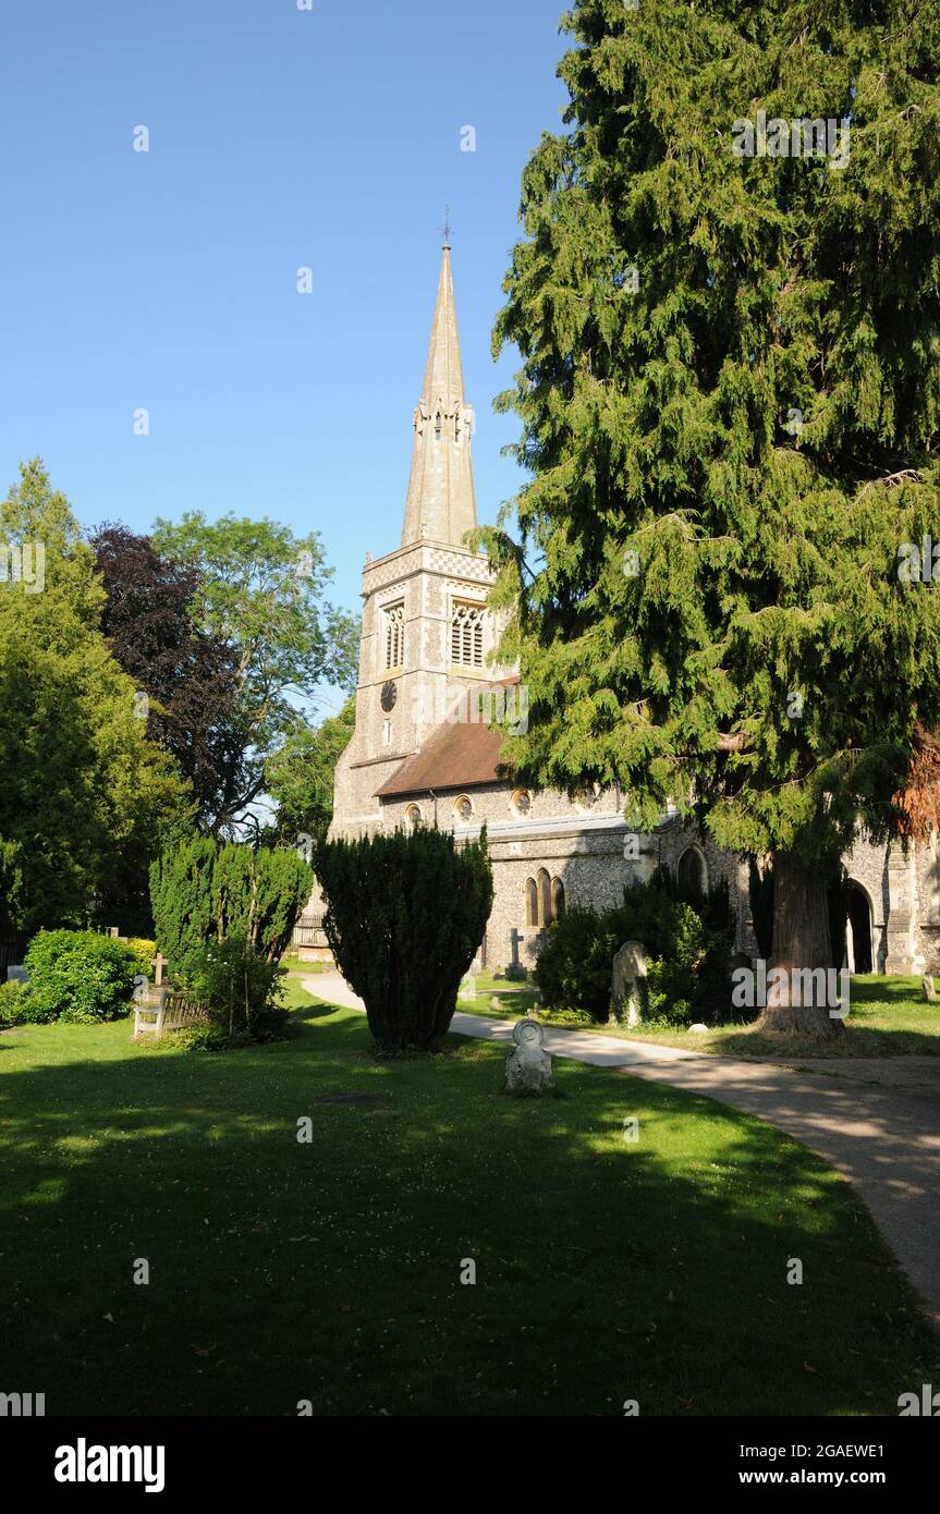
[[(940, 716), (940, 597), (899, 575), (940, 536), (940, 12), (577, 0), (563, 26), (569, 130), (525, 168), (495, 332), (531, 474), (518, 539), (486, 537), (530, 690), (507, 755), (769, 852), (773, 963), (826, 967), (830, 869), (902, 822)], [(736, 156), (758, 111), (851, 123), (848, 162)], [(784, 987), (763, 1023), (842, 1030)]]

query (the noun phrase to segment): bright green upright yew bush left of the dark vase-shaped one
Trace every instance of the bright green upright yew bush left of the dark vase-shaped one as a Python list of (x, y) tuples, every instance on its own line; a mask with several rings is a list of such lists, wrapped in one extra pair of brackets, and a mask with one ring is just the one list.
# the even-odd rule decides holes
[(313, 872), (288, 848), (253, 851), (238, 842), (197, 837), (150, 869), (150, 898), (160, 951), (174, 974), (189, 975), (203, 949), (244, 937), (268, 961), (286, 951), (310, 898)]

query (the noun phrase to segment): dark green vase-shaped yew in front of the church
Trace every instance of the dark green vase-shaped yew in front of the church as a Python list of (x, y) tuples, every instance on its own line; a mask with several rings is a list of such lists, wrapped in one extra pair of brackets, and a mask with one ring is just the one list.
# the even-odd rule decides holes
[(313, 866), (327, 940), (380, 1049), (436, 1051), (493, 902), (486, 831), (460, 849), (434, 828), (321, 840)]

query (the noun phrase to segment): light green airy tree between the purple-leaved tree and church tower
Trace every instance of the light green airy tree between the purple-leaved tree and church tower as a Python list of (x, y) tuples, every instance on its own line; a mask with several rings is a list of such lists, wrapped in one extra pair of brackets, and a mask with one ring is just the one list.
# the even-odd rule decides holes
[(157, 519), (151, 539), (198, 572), (195, 622), (233, 654), (238, 719), (212, 834), (257, 831), (266, 760), (295, 731), (298, 698), (321, 683), (354, 686), (359, 628), (324, 600), (333, 569), (316, 533), (295, 537), (269, 519), (209, 522), (188, 512), (176, 524)]

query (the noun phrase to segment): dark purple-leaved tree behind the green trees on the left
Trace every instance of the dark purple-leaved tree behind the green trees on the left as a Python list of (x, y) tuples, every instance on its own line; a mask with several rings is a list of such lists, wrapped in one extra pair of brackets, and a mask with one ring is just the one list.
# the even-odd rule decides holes
[(120, 524), (101, 525), (91, 545), (107, 595), (101, 630), (150, 698), (148, 736), (171, 752), (189, 780), (200, 824), (212, 830), (232, 754), (245, 743), (235, 648), (194, 625), (195, 568), (160, 556), (150, 537)]

